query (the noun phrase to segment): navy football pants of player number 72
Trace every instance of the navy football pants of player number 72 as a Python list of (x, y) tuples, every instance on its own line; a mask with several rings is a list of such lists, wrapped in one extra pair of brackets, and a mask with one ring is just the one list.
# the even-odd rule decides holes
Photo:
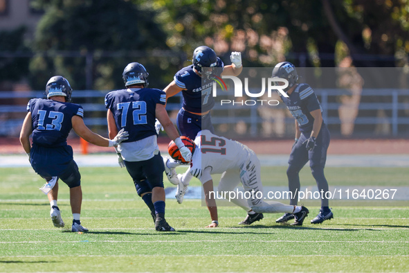
[(163, 188), (163, 159), (161, 153), (144, 161), (125, 161), (125, 167), (134, 180), (138, 195), (149, 193), (154, 187)]

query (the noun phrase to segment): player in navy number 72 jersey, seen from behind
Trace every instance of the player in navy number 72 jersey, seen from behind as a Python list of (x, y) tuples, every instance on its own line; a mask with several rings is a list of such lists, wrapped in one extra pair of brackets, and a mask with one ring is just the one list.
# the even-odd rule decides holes
[(190, 161), (192, 153), (184, 146), (167, 115), (165, 92), (147, 88), (148, 76), (142, 64), (131, 62), (122, 73), (126, 89), (111, 91), (105, 96), (109, 136), (116, 135), (121, 128), (129, 132), (129, 139), (117, 148), (118, 162), (121, 168), (125, 165), (136, 192), (149, 207), (155, 229), (174, 231), (165, 220), (165, 168), (158, 148), (155, 119), (161, 122), (186, 161)]

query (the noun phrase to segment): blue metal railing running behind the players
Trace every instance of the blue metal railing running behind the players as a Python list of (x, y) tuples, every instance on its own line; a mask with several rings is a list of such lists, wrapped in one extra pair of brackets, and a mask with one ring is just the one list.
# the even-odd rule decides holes
[[(361, 91), (361, 102), (358, 105), (345, 105), (337, 102), (334, 97), (351, 96), (345, 89), (316, 89), (318, 99), (322, 106), (322, 116), (328, 125), (340, 125), (345, 123), (338, 115), (338, 109), (342, 107), (351, 107), (358, 115), (352, 118), (350, 123), (354, 125), (376, 125), (388, 124), (391, 127), (391, 136), (403, 134), (408, 130), (400, 130), (400, 125), (409, 125), (409, 89), (363, 89)], [(103, 98), (108, 91), (76, 90), (73, 93), (74, 101), (83, 100), (80, 103), (84, 108), (84, 122), (88, 126), (99, 125), (106, 126), (106, 109)], [(0, 135), (18, 136), (21, 125), (26, 114), (26, 103), (30, 98), (44, 98), (44, 91), (1, 91), (0, 92)], [(367, 102), (367, 98), (379, 101)], [(175, 99), (173, 99), (175, 101)], [(181, 107), (181, 94), (176, 96), (176, 103), (167, 103), (167, 110), (179, 110)], [(264, 106), (265, 107), (265, 106)], [(280, 111), (287, 111), (283, 103), (274, 106)], [(219, 105), (216, 104), (212, 110), (212, 123), (215, 125), (236, 124), (244, 122), (248, 125), (248, 134), (257, 136), (260, 130), (260, 124), (266, 121), (275, 122), (275, 118), (265, 118), (260, 116), (260, 105), (237, 107), (237, 105)], [(369, 110), (369, 114), (363, 114)], [(376, 116), (379, 110), (387, 113), (385, 116)], [(173, 120), (174, 121), (174, 120)], [(281, 118), (286, 124), (293, 124), (291, 116)], [(174, 121), (175, 122), (175, 121)], [(337, 133), (337, 132), (334, 132)], [(367, 132), (371, 134), (372, 132)]]

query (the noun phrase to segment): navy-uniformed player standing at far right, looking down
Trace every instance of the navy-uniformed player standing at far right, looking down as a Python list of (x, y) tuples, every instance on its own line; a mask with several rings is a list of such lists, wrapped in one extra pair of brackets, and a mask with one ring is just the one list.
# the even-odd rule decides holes
[[(293, 193), (290, 204), (296, 205), (298, 192), (300, 191), (299, 172), (309, 161), (311, 173), (316, 179), (318, 191), (321, 196), (321, 209), (316, 218), (311, 220), (312, 224), (322, 223), (334, 218), (329, 209), (328, 199), (325, 193), (328, 191), (328, 182), (325, 179), (324, 167), (327, 160), (327, 149), (329, 146), (329, 130), (322, 120), (322, 109), (313, 89), (305, 84), (297, 84), (298, 74), (296, 67), (290, 62), (280, 62), (275, 65), (272, 77), (288, 80), (289, 86), (284, 91), (288, 98), (280, 94), (291, 114), (296, 118), (296, 139), (289, 158), (287, 177), (289, 179), (289, 190)], [(291, 213), (285, 213), (275, 222), (287, 222), (294, 218)]]

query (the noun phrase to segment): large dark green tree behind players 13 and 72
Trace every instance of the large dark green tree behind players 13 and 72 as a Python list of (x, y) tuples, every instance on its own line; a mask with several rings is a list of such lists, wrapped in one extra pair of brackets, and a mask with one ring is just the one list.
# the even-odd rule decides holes
[[(142, 12), (129, 1), (36, 0), (33, 5), (46, 11), (37, 26), (35, 51), (56, 55), (69, 51), (59, 58), (42, 54), (33, 58), (31, 82), (37, 89), (43, 89), (48, 78), (58, 73), (74, 89), (86, 89), (88, 53), (93, 54), (93, 88), (120, 88), (124, 67), (138, 61), (127, 57), (129, 51), (166, 49), (165, 35), (152, 21), (152, 12)], [(116, 55), (104, 57), (100, 53), (105, 51)]]

